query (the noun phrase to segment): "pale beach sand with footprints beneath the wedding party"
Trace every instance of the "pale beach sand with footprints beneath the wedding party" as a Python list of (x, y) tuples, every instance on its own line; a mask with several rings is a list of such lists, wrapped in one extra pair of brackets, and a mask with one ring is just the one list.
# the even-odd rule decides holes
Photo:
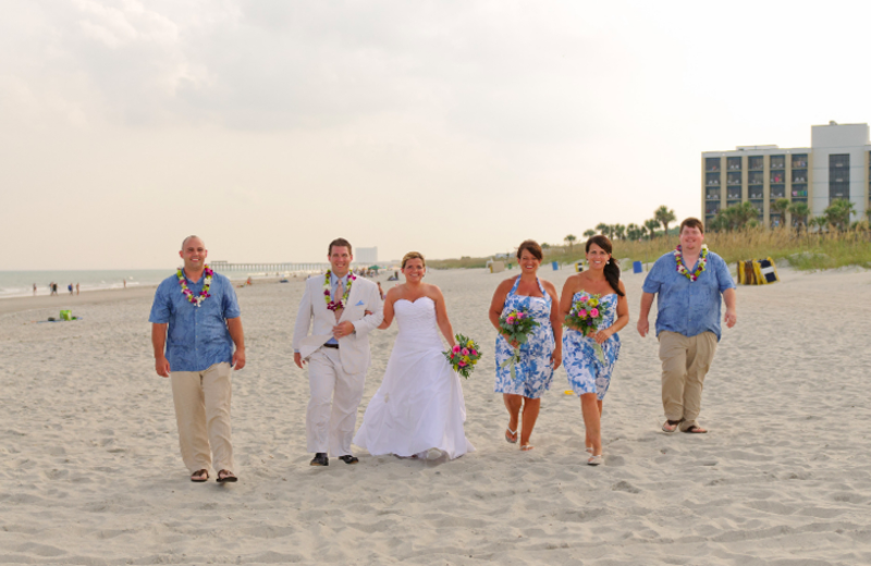
[[(739, 288), (738, 325), (706, 382), (704, 435), (660, 431), (658, 344), (635, 331), (642, 275), (626, 274), (633, 321), (598, 468), (562, 368), (536, 450), (503, 440), (487, 308), (512, 274), (427, 279), (454, 330), (484, 347), (464, 382), (477, 452), (453, 462), (360, 451), (357, 466), (309, 467), (308, 383), (291, 349), (303, 285), (237, 290), (248, 366), (233, 390), (241, 481), (225, 487), (192, 483), (182, 465), (170, 383), (154, 370), (154, 290), (89, 294), (71, 302), (83, 320), (63, 323), (33, 322), (57, 305), (0, 302), (0, 563), (871, 563), (871, 273), (784, 271)], [(557, 288), (569, 274), (541, 272)], [(358, 424), (395, 334), (375, 334)]]

